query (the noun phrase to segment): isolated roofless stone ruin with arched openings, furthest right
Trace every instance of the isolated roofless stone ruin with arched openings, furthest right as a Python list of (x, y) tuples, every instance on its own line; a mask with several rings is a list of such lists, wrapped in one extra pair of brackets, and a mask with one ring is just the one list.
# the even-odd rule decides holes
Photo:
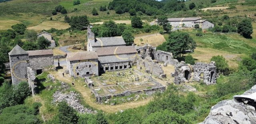
[(185, 64), (184, 61), (175, 66), (174, 76), (175, 84), (182, 84), (191, 81), (202, 81), (206, 85), (216, 83), (216, 64), (214, 61), (210, 63), (195, 63), (195, 65)]

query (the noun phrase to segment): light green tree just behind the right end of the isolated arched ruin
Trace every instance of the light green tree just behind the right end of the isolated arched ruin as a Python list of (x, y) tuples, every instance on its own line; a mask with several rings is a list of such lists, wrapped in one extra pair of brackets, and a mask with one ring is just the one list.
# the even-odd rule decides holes
[(229, 69), (228, 69), (228, 61), (223, 56), (213, 56), (211, 58), (211, 61), (215, 61), (216, 68), (218, 73), (222, 73), (224, 75), (228, 75)]

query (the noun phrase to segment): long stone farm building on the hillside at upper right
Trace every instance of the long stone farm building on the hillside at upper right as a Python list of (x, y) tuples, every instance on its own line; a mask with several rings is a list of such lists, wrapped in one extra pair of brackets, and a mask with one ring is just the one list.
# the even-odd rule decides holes
[[(202, 29), (208, 29), (208, 28), (213, 28), (214, 24), (202, 20), (200, 17), (192, 17), (192, 18), (168, 18), (167, 19), (170, 25), (172, 27), (194, 27), (196, 24), (199, 24), (199, 27)], [(156, 23), (158, 20), (156, 20)]]

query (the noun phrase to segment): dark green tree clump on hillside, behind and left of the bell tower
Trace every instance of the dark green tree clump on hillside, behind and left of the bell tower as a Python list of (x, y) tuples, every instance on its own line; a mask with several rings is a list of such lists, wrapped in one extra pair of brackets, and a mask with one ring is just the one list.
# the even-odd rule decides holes
[(82, 31), (87, 28), (89, 23), (87, 16), (72, 16), (69, 25), (72, 30)]

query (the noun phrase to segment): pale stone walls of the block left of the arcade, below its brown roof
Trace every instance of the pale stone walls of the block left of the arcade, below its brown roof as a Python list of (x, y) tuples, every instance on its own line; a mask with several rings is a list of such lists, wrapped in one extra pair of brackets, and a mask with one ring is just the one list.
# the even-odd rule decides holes
[(89, 75), (99, 75), (98, 60), (71, 61), (67, 63), (67, 68), (71, 76), (86, 77)]

